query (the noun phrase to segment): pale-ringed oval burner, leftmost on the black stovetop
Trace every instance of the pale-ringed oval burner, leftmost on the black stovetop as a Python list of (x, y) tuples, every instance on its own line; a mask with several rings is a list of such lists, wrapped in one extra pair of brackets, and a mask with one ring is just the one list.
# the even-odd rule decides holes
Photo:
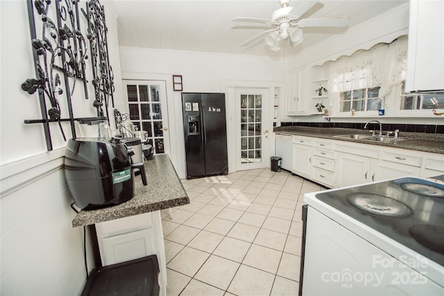
[(370, 214), (403, 217), (411, 214), (411, 209), (398, 200), (373, 193), (351, 193), (347, 200), (352, 206)]

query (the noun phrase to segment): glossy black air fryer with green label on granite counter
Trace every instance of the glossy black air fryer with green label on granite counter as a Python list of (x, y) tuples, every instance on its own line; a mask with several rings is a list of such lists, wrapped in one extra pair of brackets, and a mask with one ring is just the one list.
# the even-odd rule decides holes
[(69, 139), (65, 179), (77, 207), (97, 209), (133, 198), (133, 154), (116, 137)]

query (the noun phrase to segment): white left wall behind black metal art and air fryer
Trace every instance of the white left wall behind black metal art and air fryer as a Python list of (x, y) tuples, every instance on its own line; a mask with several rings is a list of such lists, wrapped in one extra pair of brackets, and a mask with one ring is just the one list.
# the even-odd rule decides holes
[[(117, 14), (106, 1), (103, 5), (116, 85), (114, 96), (118, 100), (121, 71)], [(85, 1), (80, 7), (85, 7)], [(75, 213), (62, 170), (65, 141), (57, 125), (51, 124), (54, 150), (47, 152), (42, 124), (24, 124), (24, 119), (42, 118), (37, 94), (29, 95), (20, 87), (27, 78), (35, 78), (26, 1), (0, 1), (0, 12), (0, 295), (80, 295), (86, 281), (83, 229), (71, 226)], [(87, 79), (91, 82), (89, 61)], [(96, 116), (92, 85), (89, 100), (84, 97), (83, 85), (77, 82), (74, 116)], [(62, 118), (67, 118), (63, 96), (59, 101)], [(64, 124), (64, 129), (69, 139), (69, 125)], [(92, 259), (89, 248), (87, 252)], [(92, 267), (90, 261), (89, 269)]]

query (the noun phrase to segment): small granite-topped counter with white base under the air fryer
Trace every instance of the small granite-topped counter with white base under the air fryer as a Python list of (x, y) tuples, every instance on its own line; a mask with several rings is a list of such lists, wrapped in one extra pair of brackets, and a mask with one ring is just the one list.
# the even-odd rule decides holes
[(160, 268), (160, 295), (166, 293), (165, 259), (160, 210), (189, 204), (189, 198), (168, 155), (155, 155), (144, 163), (147, 185), (135, 176), (132, 199), (112, 207), (80, 211), (73, 227), (88, 226), (98, 243), (100, 260), (96, 265), (111, 265), (157, 255)]

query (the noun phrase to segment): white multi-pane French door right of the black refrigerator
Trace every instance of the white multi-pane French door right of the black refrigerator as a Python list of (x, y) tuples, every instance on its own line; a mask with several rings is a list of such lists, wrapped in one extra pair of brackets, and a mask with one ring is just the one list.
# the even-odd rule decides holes
[(266, 168), (270, 162), (268, 127), (269, 90), (237, 88), (237, 171)]

